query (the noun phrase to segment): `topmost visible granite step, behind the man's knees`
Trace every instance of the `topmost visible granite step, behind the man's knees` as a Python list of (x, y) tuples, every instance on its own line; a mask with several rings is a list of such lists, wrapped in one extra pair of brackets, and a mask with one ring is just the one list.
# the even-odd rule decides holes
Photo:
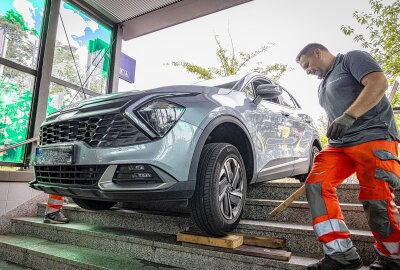
[[(280, 183), (265, 182), (250, 185), (247, 191), (247, 198), (265, 200), (286, 200), (293, 192), (299, 189), (303, 183)], [(358, 184), (342, 184), (337, 188), (337, 194), (341, 203), (359, 203)], [(299, 201), (307, 201), (305, 194)], [(395, 202), (400, 206), (400, 189), (395, 191)]]

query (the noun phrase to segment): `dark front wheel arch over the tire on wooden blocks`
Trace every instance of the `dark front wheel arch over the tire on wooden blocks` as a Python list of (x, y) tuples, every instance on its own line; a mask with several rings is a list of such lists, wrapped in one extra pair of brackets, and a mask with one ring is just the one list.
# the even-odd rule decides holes
[(253, 182), (257, 174), (254, 164), (255, 151), (250, 133), (239, 119), (227, 115), (219, 116), (211, 121), (201, 134), (190, 164), (189, 180), (193, 181), (197, 178), (197, 167), (204, 145), (216, 142), (230, 143), (239, 150), (246, 167), (247, 182)]

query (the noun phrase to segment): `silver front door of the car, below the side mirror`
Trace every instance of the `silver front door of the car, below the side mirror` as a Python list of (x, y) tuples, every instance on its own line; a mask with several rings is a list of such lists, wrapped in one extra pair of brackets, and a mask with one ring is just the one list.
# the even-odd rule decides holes
[[(255, 98), (255, 89), (260, 84), (269, 84), (268, 80), (255, 78), (244, 88), (246, 95)], [(252, 127), (257, 151), (257, 181), (265, 181), (289, 176), (293, 171), (292, 150), (287, 147), (285, 136), (288, 127), (282, 114), (279, 98), (262, 100), (248, 114), (247, 124)]]

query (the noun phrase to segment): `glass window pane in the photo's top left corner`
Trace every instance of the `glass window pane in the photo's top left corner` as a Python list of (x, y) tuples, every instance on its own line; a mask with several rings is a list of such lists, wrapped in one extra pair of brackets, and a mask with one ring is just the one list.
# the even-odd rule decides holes
[(36, 69), (45, 0), (0, 1), (0, 56)]

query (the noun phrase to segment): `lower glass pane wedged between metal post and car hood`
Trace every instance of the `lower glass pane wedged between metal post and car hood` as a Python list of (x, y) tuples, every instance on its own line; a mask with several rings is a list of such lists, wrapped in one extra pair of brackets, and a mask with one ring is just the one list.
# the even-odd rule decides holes
[[(86, 98), (91, 98), (91, 96), (86, 94)], [(47, 115), (82, 99), (84, 99), (82, 92), (78, 92), (74, 89), (56, 83), (51, 83), (50, 94), (47, 103)]]

